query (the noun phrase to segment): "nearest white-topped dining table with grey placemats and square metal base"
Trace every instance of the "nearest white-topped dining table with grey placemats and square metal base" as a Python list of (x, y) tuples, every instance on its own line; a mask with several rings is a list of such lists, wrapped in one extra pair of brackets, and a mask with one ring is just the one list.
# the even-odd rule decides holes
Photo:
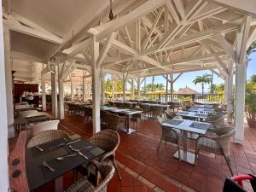
[[(182, 132), (182, 143), (183, 148), (180, 150), (181, 160), (188, 162), (189, 164), (195, 164), (195, 153), (189, 151), (189, 133), (195, 133), (204, 135), (210, 127), (210, 123), (198, 122), (189, 119), (168, 119), (166, 122), (161, 124), (166, 127), (178, 129)], [(173, 154), (178, 159), (178, 151)]]

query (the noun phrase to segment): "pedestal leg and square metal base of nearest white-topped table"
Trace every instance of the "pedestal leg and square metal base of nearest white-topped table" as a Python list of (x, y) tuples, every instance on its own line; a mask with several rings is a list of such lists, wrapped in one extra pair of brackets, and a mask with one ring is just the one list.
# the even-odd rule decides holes
[[(180, 159), (190, 164), (194, 164), (195, 154), (189, 152), (188, 144), (188, 131), (183, 131), (183, 149), (180, 149)], [(173, 154), (173, 156), (178, 158), (178, 151)]]

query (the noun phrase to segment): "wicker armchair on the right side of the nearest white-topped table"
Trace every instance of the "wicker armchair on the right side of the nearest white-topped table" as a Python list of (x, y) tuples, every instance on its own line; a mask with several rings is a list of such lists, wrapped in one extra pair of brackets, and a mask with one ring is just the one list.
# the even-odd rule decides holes
[(214, 130), (214, 133), (215, 134), (212, 136), (204, 135), (197, 138), (195, 147), (195, 164), (200, 150), (204, 150), (212, 154), (223, 155), (229, 166), (231, 175), (233, 176), (234, 174), (230, 166), (229, 155), (230, 138), (235, 135), (235, 129), (234, 127), (218, 128)]

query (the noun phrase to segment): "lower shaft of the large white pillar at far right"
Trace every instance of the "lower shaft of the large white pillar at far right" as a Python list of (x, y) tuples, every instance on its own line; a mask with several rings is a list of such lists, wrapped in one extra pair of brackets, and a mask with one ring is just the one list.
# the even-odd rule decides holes
[(242, 143), (244, 137), (246, 65), (236, 64), (236, 107), (235, 107), (235, 142)]

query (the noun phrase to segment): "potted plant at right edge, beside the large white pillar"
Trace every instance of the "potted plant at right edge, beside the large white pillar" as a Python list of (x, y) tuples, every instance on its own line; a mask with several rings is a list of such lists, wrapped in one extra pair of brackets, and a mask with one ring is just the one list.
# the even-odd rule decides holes
[(251, 93), (246, 96), (247, 104), (247, 124), (249, 127), (256, 128), (256, 93)]

